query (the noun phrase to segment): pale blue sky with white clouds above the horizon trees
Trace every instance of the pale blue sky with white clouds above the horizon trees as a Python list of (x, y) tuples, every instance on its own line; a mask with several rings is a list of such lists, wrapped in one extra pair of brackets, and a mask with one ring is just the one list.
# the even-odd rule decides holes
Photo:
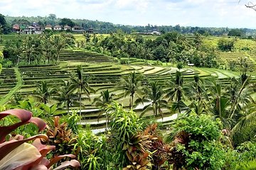
[[(85, 18), (124, 25), (256, 28), (246, 0), (0, 0), (9, 16)], [(254, 1), (254, 0), (252, 0)], [(256, 4), (256, 0), (255, 0)]]

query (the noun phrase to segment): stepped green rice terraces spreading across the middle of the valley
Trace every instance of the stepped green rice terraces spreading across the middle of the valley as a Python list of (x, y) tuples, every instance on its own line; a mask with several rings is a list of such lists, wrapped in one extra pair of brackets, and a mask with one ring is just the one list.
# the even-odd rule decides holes
[[(0, 74), (0, 79), (3, 81), (0, 87), (1, 104), (6, 103), (11, 95), (16, 91), (30, 96), (36, 89), (36, 84), (40, 81), (46, 81), (48, 84), (60, 86), (63, 80), (68, 80), (75, 72), (77, 65), (82, 65), (85, 74), (90, 75), (89, 84), (95, 89), (96, 93), (91, 94), (91, 101), (100, 96), (100, 92), (109, 89), (112, 94), (116, 94), (114, 100), (123, 103), (124, 106), (129, 105), (129, 96), (126, 98), (119, 96), (122, 91), (117, 90), (115, 87), (120, 81), (121, 77), (127, 77), (129, 72), (140, 72), (144, 75), (143, 83), (146, 84), (148, 80), (157, 80), (161, 84), (165, 84), (167, 79), (174, 76), (176, 72), (175, 67), (156, 67), (144, 66), (142, 64), (118, 64), (117, 60), (112, 57), (92, 53), (73, 50), (64, 50), (60, 55), (60, 64), (42, 67), (18, 67), (15, 69), (4, 69)], [(134, 60), (136, 63), (136, 60)], [(189, 82), (193, 79), (194, 75), (199, 75), (203, 79), (216, 78), (222, 84), (228, 84), (230, 77), (238, 77), (239, 73), (229, 72), (220, 69), (208, 68), (185, 68), (181, 69), (184, 81)], [(19, 80), (20, 77), (20, 80)], [(11, 93), (9, 93), (11, 91)], [(3, 99), (4, 98), (4, 99)], [(84, 99), (82, 97), (82, 99)], [(85, 108), (82, 110), (82, 125), (90, 124), (95, 132), (105, 128), (105, 115), (99, 117), (99, 109), (92, 104), (91, 101), (82, 100)], [(50, 101), (55, 103), (56, 101)], [(138, 114), (141, 113), (143, 105), (134, 108)], [(78, 111), (78, 106), (73, 106), (71, 109)], [(60, 108), (59, 113), (65, 113), (65, 108)], [(167, 109), (163, 109), (164, 121), (169, 123), (173, 115)], [(151, 116), (152, 113), (148, 112), (145, 116)], [(159, 121), (163, 121), (159, 118)]]

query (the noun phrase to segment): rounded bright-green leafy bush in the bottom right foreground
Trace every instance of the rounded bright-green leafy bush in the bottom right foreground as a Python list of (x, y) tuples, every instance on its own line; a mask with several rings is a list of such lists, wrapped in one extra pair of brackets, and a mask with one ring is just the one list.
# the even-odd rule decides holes
[(181, 115), (166, 138), (171, 142), (169, 163), (174, 169), (221, 169), (225, 152), (220, 121), (210, 115)]

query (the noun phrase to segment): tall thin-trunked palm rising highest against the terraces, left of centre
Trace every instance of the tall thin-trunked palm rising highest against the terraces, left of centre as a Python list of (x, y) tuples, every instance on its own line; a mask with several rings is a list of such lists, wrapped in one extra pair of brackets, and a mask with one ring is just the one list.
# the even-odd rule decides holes
[(81, 116), (82, 94), (85, 94), (85, 99), (90, 100), (90, 92), (94, 92), (94, 90), (88, 84), (89, 78), (90, 77), (83, 74), (81, 66), (77, 67), (76, 75), (73, 75), (70, 77), (70, 89), (72, 91), (76, 91), (79, 96), (80, 116)]

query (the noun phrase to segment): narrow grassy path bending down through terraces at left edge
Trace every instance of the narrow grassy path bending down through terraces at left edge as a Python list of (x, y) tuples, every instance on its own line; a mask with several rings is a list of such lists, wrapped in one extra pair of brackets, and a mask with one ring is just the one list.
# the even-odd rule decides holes
[(16, 93), (16, 91), (18, 91), (18, 89), (20, 89), (21, 86), (22, 86), (21, 73), (18, 72), (18, 68), (17, 67), (14, 67), (14, 72), (16, 74), (17, 84), (16, 84), (16, 86), (13, 89), (11, 89), (11, 91), (9, 91), (9, 94), (6, 94), (6, 96), (1, 98), (0, 105), (4, 105), (7, 101), (9, 101), (11, 96), (13, 96)]

